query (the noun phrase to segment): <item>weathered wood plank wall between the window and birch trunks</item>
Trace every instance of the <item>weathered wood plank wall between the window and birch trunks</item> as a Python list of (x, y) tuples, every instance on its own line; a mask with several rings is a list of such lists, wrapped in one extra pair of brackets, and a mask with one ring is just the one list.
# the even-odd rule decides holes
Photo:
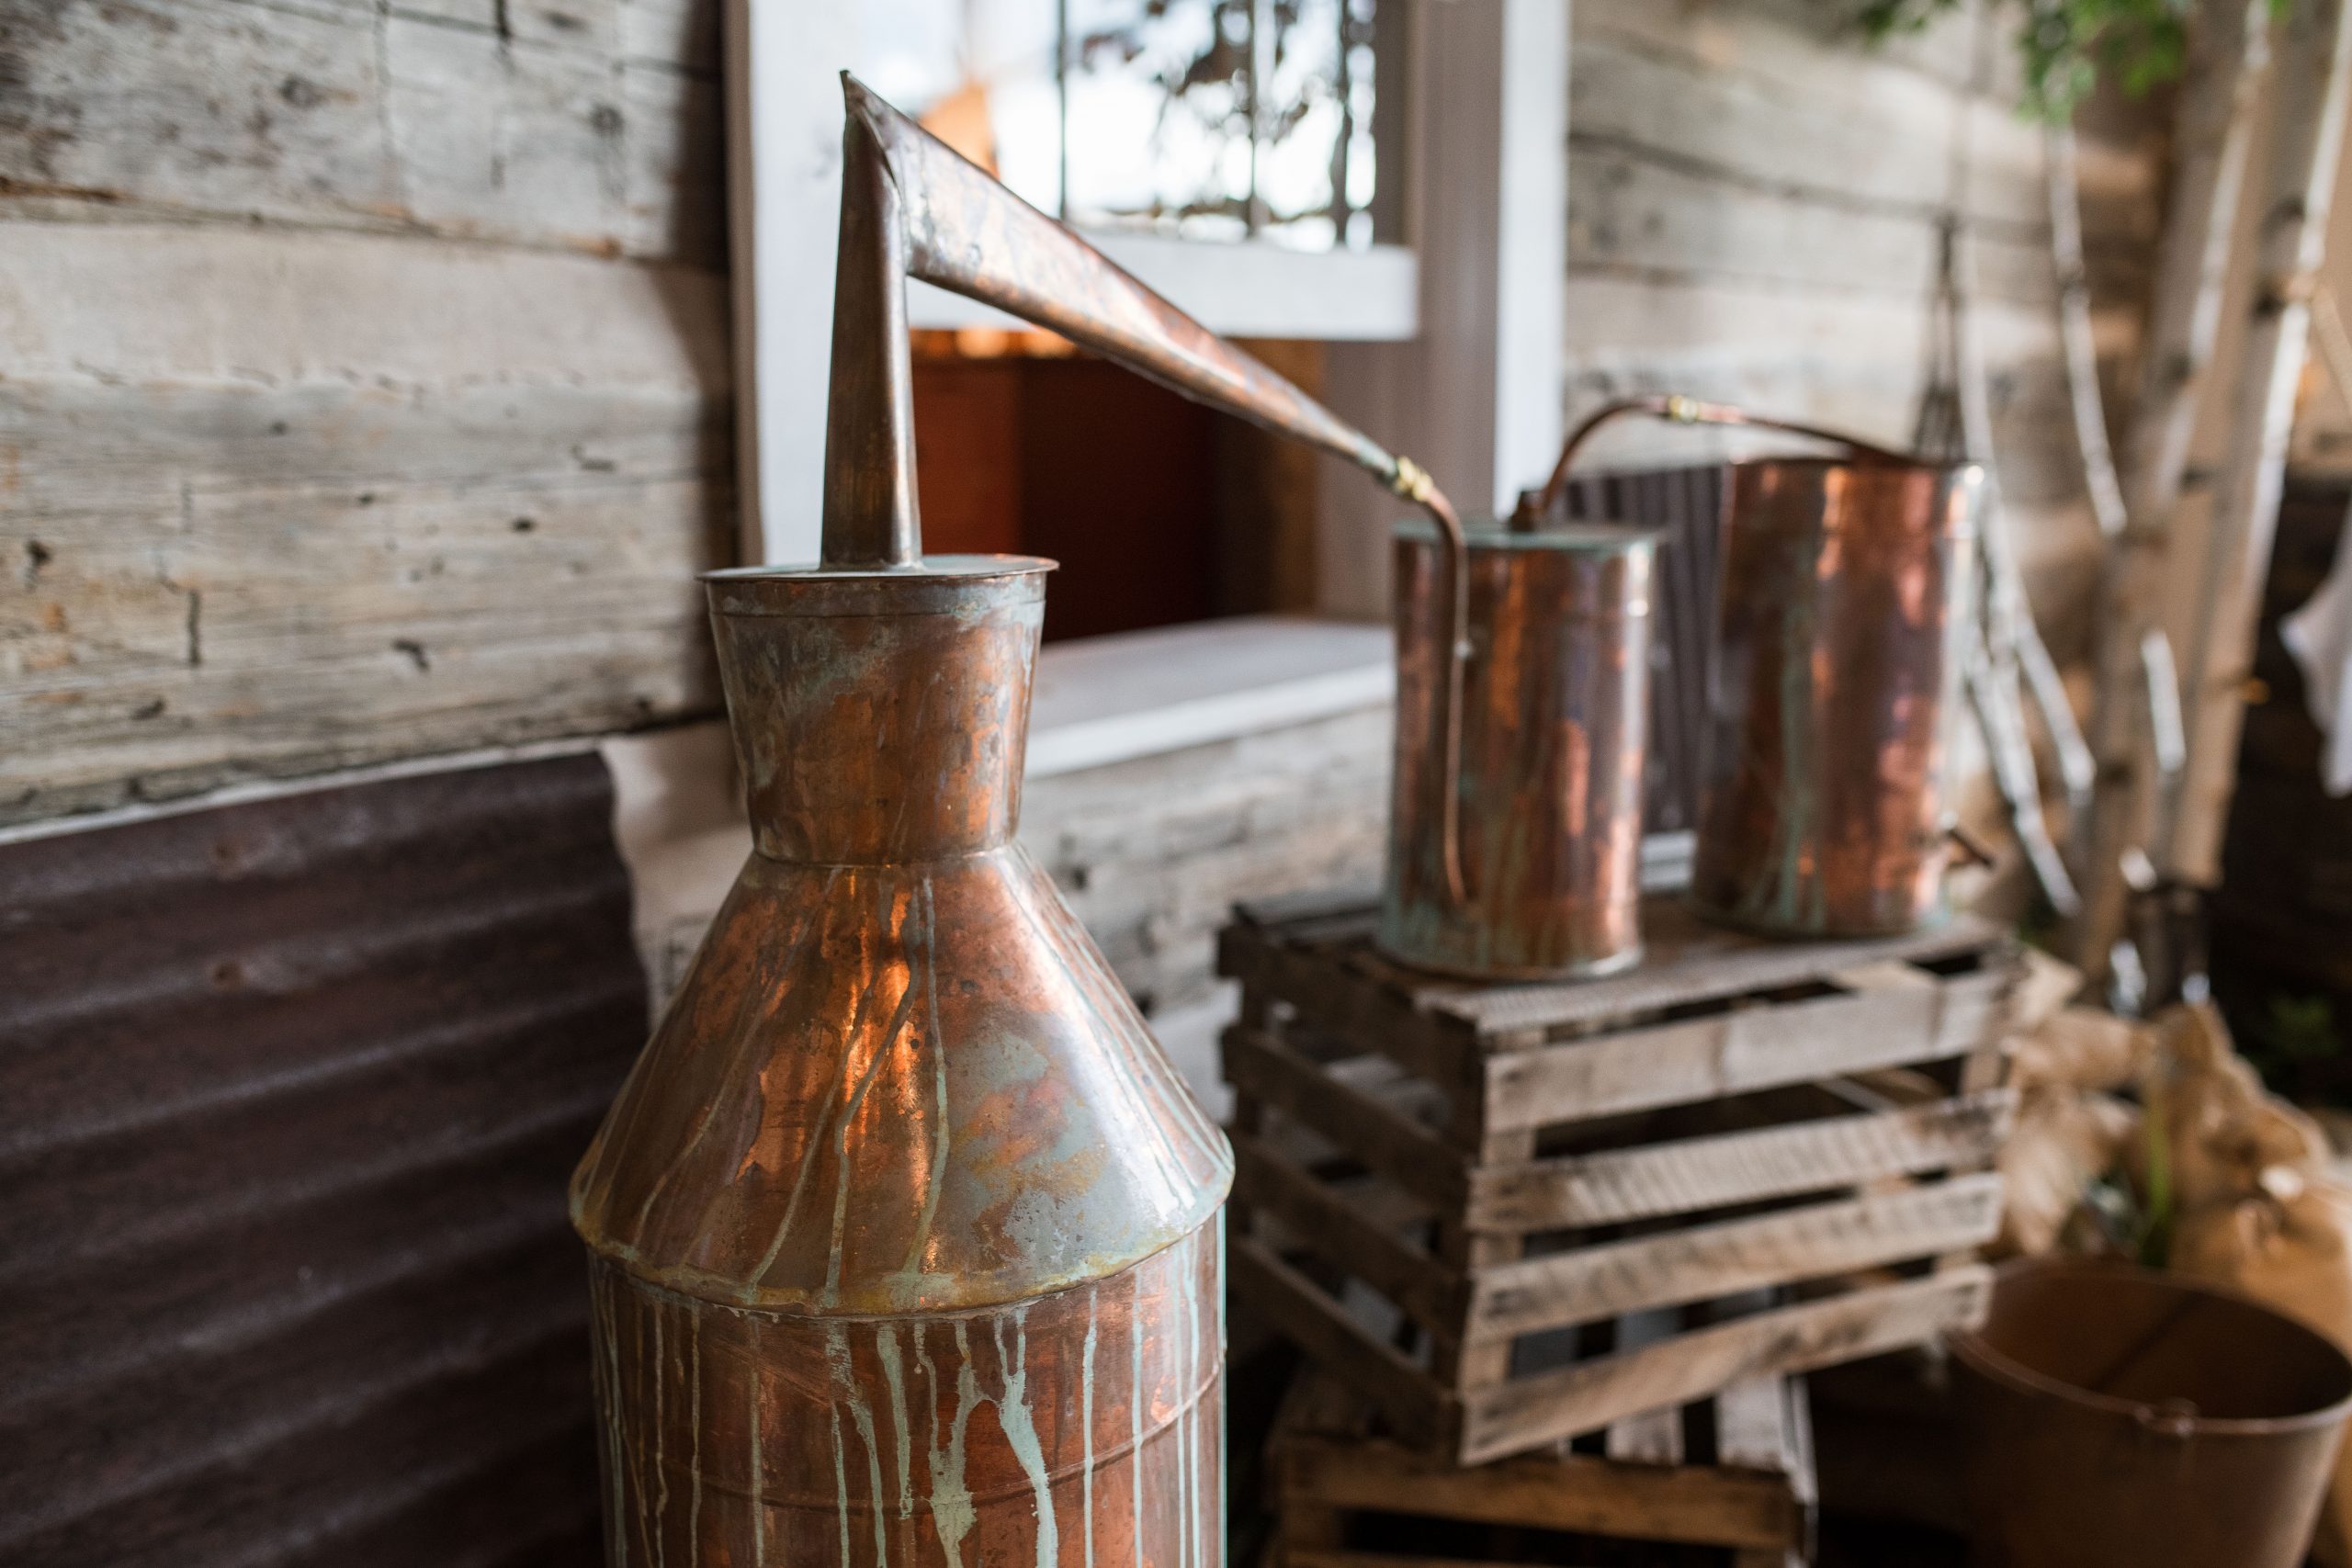
[[(1684, 390), (1907, 440), (1938, 226), (1959, 202), (1994, 456), (2037, 611), (2070, 656), (2096, 531), (2067, 423), (2042, 134), (2013, 110), (2006, 28), (1997, 16), (1980, 47), (1952, 19), (1870, 49), (1816, 0), (1578, 0), (1566, 402), (1576, 421), (1628, 390)], [(2103, 371), (2119, 388), (2157, 202), (2154, 146), (2131, 115), (2089, 115), (2082, 181)], [(1708, 451), (1656, 425), (1604, 440), (1597, 465)]]

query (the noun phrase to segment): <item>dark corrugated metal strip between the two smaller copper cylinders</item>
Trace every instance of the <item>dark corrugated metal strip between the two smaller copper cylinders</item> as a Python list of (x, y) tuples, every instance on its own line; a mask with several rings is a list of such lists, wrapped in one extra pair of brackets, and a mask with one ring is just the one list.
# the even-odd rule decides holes
[(1566, 515), (1661, 529), (1651, 576), (1651, 679), (1644, 832), (1698, 827), (1698, 745), (1708, 717), (1708, 639), (1731, 470), (1653, 468), (1569, 480)]

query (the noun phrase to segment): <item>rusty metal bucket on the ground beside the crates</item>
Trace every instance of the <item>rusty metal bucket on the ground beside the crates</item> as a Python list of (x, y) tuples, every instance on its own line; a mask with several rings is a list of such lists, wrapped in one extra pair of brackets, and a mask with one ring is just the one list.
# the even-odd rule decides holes
[(1955, 1335), (1987, 1568), (2291, 1568), (2352, 1361), (2241, 1295), (2119, 1265), (2002, 1269)]

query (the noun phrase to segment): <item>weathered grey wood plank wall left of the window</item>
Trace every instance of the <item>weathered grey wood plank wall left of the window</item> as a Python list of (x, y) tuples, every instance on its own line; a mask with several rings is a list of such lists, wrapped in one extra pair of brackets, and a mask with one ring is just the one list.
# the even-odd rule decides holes
[(0, 0), (0, 823), (717, 703), (715, 0)]

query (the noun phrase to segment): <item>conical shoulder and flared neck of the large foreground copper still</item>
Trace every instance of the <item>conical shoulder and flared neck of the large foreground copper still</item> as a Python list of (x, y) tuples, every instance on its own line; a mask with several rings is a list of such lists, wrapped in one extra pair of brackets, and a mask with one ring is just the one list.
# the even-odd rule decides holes
[(635, 1279), (988, 1307), (1223, 1201), (1223, 1135), (1014, 842), (1049, 567), (710, 578), (757, 853), (576, 1180)]

